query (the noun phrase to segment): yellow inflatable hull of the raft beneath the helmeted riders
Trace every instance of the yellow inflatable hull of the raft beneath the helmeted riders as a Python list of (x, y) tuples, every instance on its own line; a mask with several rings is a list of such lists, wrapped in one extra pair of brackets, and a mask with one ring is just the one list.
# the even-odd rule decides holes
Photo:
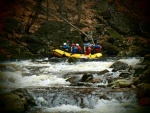
[(95, 54), (89, 54), (89, 55), (76, 53), (76, 54), (71, 55), (71, 53), (65, 52), (65, 51), (60, 50), (60, 49), (54, 49), (53, 54), (56, 57), (91, 58), (91, 59), (102, 57), (101, 53), (95, 53)]

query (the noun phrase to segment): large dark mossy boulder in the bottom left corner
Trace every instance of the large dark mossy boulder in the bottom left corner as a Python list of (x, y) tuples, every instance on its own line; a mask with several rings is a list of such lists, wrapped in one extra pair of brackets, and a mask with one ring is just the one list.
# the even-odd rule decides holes
[(5, 113), (23, 113), (36, 103), (26, 89), (16, 89), (0, 94), (0, 111)]

